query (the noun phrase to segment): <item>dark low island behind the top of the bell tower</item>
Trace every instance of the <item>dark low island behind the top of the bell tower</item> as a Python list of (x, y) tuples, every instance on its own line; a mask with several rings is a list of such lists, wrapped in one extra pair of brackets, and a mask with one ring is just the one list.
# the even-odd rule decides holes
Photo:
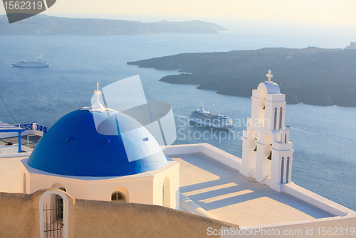
[(263, 75), (272, 70), (273, 81), (286, 94), (288, 104), (356, 107), (356, 50), (350, 48), (182, 53), (127, 64), (179, 70), (181, 74), (168, 75), (160, 81), (199, 85), (201, 90), (239, 97), (251, 97), (251, 90), (258, 82), (267, 80)]

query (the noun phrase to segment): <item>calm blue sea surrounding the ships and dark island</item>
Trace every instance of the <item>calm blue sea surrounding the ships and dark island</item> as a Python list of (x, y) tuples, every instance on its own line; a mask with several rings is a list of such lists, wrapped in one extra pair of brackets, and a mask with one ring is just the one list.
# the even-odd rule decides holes
[[(140, 75), (147, 101), (172, 105), (177, 124), (176, 144), (208, 142), (241, 156), (241, 131), (251, 115), (251, 99), (197, 90), (194, 85), (170, 85), (158, 80), (176, 71), (158, 71), (126, 65), (184, 52), (250, 50), (263, 47), (305, 48), (310, 45), (337, 48), (339, 43), (258, 34), (152, 34), (142, 36), (0, 36), (0, 95), (21, 124), (51, 126), (64, 114), (90, 106), (95, 82), (101, 87), (132, 75)], [(350, 40), (349, 40), (350, 41)], [(318, 44), (320, 42), (320, 44)], [(346, 45), (344, 45), (346, 46)], [(41, 58), (49, 68), (16, 68), (10, 63)], [(268, 69), (266, 69), (267, 71)], [(261, 82), (265, 80), (261, 75)], [(257, 87), (258, 85), (256, 85)], [(237, 124), (222, 140), (211, 138), (206, 128), (189, 127), (193, 109), (227, 114)], [(356, 210), (356, 108), (288, 105), (286, 124), (291, 125), (293, 181), (320, 195)], [(0, 121), (14, 119), (0, 102)], [(239, 126), (239, 121), (241, 126)], [(208, 131), (208, 139), (195, 131)], [(219, 135), (219, 131), (216, 132)]]

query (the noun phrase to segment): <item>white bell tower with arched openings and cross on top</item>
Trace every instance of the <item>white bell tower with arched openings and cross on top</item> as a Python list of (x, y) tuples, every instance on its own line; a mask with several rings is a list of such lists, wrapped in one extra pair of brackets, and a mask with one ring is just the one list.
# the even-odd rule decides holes
[(271, 70), (266, 76), (268, 81), (252, 90), (251, 118), (241, 136), (240, 173), (280, 192), (292, 176), (293, 144), (285, 127), (286, 95), (271, 81)]

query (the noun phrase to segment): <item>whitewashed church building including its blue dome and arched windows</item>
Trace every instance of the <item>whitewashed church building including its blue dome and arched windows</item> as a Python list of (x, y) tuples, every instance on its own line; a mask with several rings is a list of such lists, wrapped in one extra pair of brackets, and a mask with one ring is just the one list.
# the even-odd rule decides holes
[(179, 163), (138, 121), (100, 102), (53, 124), (21, 160), (21, 181), (23, 193), (59, 188), (73, 198), (179, 209)]

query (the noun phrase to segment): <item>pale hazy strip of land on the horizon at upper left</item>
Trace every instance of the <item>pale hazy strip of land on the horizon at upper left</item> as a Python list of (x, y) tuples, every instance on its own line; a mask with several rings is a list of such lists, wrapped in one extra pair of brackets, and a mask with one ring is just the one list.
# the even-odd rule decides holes
[(36, 15), (9, 24), (0, 16), (0, 35), (114, 35), (149, 33), (217, 33), (226, 28), (204, 21), (159, 21), (143, 23), (94, 18), (65, 18)]

